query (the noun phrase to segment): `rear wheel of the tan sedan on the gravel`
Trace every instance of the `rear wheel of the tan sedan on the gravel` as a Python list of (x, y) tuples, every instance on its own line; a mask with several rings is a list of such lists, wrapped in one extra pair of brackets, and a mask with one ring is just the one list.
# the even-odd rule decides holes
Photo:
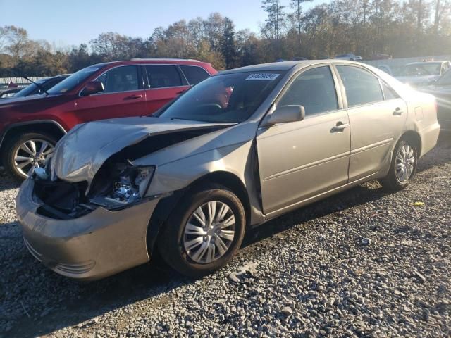
[[(406, 154), (406, 156), (404, 156), (404, 154)], [(418, 152), (416, 146), (408, 139), (401, 139), (395, 146), (395, 151), (393, 151), (388, 175), (379, 180), (382, 187), (391, 192), (396, 192), (407, 187), (416, 173), (417, 162)], [(411, 166), (406, 163), (409, 163)], [(405, 177), (403, 177), (402, 169), (400, 169), (403, 167), (404, 170), (406, 170), (404, 171), (406, 174)]]

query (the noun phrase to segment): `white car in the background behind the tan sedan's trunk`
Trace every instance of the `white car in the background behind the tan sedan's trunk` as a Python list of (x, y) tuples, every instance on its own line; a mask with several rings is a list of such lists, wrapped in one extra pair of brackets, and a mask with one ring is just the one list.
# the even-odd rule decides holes
[(412, 62), (404, 67), (401, 75), (395, 77), (404, 84), (421, 87), (437, 81), (450, 66), (450, 61)]

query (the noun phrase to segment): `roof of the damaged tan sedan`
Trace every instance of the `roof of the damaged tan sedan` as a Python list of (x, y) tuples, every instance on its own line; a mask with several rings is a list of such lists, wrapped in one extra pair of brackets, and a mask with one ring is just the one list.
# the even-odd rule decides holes
[(282, 71), (290, 70), (291, 68), (304, 68), (309, 65), (321, 65), (323, 63), (350, 63), (352, 65), (362, 65), (362, 63), (357, 63), (354, 61), (345, 60), (300, 60), (300, 61), (283, 61), (283, 62), (272, 62), (272, 63), (262, 63), (260, 65), (247, 65), (246, 67), (235, 68), (230, 70), (225, 70), (221, 72), (223, 74), (231, 73), (247, 73), (247, 72), (264, 72), (264, 71)]

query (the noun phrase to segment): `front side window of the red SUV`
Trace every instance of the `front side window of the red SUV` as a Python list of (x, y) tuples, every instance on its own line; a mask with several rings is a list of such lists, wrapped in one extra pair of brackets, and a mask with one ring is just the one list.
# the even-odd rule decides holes
[(102, 93), (129, 92), (138, 90), (138, 68), (135, 65), (124, 65), (108, 70), (97, 78), (104, 84)]

